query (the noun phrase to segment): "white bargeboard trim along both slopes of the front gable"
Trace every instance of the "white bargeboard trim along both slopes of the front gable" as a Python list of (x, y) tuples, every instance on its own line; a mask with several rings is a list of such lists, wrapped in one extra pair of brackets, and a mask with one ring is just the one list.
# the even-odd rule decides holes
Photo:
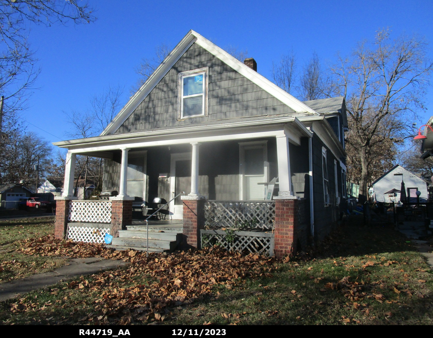
[(171, 53), (165, 58), (165, 60), (156, 68), (152, 75), (147, 81), (141, 86), (141, 88), (130, 98), (128, 103), (121, 109), (121, 111), (114, 117), (111, 123), (102, 131), (100, 136), (113, 134), (126, 119), (132, 114), (132, 112), (138, 107), (138, 105), (144, 100), (144, 98), (152, 91), (152, 89), (161, 81), (161, 79), (168, 73), (173, 65), (180, 59), (180, 57), (188, 50), (188, 48), (196, 43), (201, 48), (221, 60), (227, 66), (238, 72), (258, 87), (268, 92), (270, 95), (287, 105), (295, 112), (305, 112), (309, 115), (319, 116), (308, 105), (300, 102), (257, 72), (244, 65), (242, 62), (236, 60), (227, 52), (223, 51), (207, 39), (194, 31), (189, 31), (188, 34), (177, 44), (177, 46), (171, 51)]

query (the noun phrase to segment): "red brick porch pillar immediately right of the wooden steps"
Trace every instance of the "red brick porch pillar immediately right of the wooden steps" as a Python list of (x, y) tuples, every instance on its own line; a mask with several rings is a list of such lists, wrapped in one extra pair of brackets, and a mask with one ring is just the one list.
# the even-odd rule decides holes
[(183, 249), (200, 248), (200, 229), (204, 228), (203, 196), (182, 196)]

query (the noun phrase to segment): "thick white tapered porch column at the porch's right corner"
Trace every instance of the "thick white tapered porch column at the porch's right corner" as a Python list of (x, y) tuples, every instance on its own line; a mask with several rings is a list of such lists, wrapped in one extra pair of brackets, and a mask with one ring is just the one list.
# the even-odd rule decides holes
[(290, 176), (290, 157), (288, 151), (287, 136), (276, 137), (276, 154), (278, 159), (278, 196), (290, 197), (292, 196), (292, 191)]

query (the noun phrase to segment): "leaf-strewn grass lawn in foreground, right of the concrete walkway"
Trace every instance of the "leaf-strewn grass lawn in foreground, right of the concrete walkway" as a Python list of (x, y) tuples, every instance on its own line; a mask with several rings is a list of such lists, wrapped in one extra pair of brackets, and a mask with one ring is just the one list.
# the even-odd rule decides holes
[(290, 260), (215, 249), (119, 257), (130, 265), (0, 302), (0, 322), (433, 324), (431, 267), (392, 227), (357, 218)]

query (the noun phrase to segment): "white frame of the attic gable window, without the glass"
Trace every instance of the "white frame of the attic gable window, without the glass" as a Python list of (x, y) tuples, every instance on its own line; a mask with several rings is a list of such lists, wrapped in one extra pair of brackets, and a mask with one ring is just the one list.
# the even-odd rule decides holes
[[(200, 94), (193, 94), (188, 96), (183, 96), (183, 79), (197, 76), (197, 75), (203, 75), (203, 92)], [(187, 72), (181, 72), (178, 74), (178, 114), (177, 119), (178, 120), (185, 120), (185, 119), (192, 119), (196, 117), (203, 117), (207, 116), (207, 89), (208, 89), (208, 83), (209, 83), (209, 67), (203, 67), (199, 69), (194, 69), (192, 71)], [(185, 98), (191, 98), (191, 97), (199, 97), (202, 96), (202, 108), (201, 108), (201, 114), (192, 115), (192, 116), (183, 116), (183, 99)]]

